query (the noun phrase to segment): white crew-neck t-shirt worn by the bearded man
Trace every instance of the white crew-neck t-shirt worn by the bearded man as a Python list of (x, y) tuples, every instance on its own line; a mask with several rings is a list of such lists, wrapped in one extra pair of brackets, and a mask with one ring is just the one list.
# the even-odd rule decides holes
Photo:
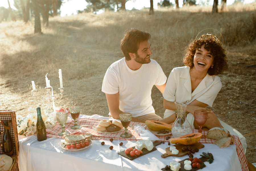
[[(154, 113), (151, 90), (154, 85), (166, 83), (161, 66), (151, 59), (136, 71), (131, 70), (125, 58), (108, 68), (102, 83), (102, 91), (107, 94), (119, 92), (119, 109), (129, 112), (133, 117)], [(110, 114), (110, 113), (109, 113)]]

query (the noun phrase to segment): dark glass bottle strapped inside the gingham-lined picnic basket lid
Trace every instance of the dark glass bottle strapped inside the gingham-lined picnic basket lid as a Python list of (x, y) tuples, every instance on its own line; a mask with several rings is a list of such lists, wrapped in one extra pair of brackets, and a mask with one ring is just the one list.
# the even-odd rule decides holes
[[(6, 127), (9, 127), (9, 121), (3, 121)], [(3, 135), (3, 153), (11, 156), (13, 154), (13, 142), (12, 137), (10, 135), (9, 129), (5, 128)]]

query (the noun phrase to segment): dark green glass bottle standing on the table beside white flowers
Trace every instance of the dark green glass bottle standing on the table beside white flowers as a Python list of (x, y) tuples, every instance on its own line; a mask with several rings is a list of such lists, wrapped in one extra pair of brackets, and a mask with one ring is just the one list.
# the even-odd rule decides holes
[(36, 111), (37, 111), (37, 122), (36, 122), (37, 140), (38, 141), (44, 141), (44, 140), (47, 139), (46, 127), (45, 127), (44, 121), (43, 121), (42, 116), (41, 116), (40, 107), (37, 107)]

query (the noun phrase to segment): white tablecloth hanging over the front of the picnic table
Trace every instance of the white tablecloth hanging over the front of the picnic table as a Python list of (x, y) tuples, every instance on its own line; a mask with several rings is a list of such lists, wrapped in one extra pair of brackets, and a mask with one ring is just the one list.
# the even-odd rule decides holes
[[(82, 116), (82, 117), (97, 117)], [(103, 119), (103, 117), (102, 117)], [(21, 137), (20, 137), (21, 138)], [(128, 147), (135, 146), (135, 141), (114, 140), (113, 142), (93, 140), (92, 146), (79, 151), (69, 151), (61, 148), (60, 138), (48, 138), (45, 141), (37, 141), (36, 135), (25, 137), (19, 141), (18, 165), (20, 171), (50, 171), (50, 170), (161, 170), (172, 161), (180, 161), (188, 156), (162, 158), (161, 155), (169, 147), (167, 143), (156, 146), (157, 150), (141, 156), (135, 160), (129, 160), (117, 154)], [(120, 146), (119, 143), (123, 142)], [(113, 146), (113, 150), (109, 146)], [(216, 144), (204, 144), (205, 147), (194, 154), (200, 158), (202, 152), (210, 152), (214, 156), (212, 164), (205, 162), (204, 171), (240, 171), (241, 165), (236, 152), (236, 145), (227, 148), (219, 148)]]

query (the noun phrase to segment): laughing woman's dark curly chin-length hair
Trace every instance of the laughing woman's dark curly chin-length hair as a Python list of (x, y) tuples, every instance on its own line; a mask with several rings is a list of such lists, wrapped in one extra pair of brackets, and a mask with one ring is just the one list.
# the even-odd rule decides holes
[(203, 44), (205, 44), (205, 49), (210, 51), (212, 56), (214, 56), (213, 68), (210, 67), (208, 69), (208, 74), (210, 76), (222, 74), (223, 71), (228, 69), (226, 51), (222, 48), (220, 41), (212, 34), (203, 35), (199, 39), (191, 42), (185, 51), (183, 63), (185, 66), (193, 68), (195, 52)]

